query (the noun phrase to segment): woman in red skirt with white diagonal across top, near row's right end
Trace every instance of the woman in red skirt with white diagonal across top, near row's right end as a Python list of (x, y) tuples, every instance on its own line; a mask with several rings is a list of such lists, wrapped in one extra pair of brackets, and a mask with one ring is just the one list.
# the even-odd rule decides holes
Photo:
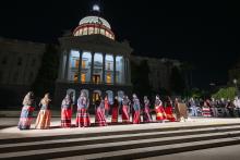
[(156, 99), (155, 99), (155, 111), (156, 111), (156, 121), (165, 122), (166, 113), (163, 107), (163, 102), (158, 95), (156, 96)]

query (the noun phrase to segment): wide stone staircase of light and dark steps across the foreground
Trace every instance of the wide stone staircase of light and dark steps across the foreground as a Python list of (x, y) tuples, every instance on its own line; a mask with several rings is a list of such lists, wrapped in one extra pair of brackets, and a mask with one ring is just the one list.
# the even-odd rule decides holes
[[(40, 132), (40, 131), (39, 131)], [(0, 139), (0, 159), (141, 159), (240, 144), (240, 123)]]

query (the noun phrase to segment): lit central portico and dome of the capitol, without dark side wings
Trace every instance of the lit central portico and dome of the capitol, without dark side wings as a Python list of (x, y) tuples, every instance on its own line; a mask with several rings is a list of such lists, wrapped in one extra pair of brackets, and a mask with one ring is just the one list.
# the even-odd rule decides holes
[(85, 90), (94, 103), (99, 96), (122, 97), (131, 91), (130, 54), (127, 41), (115, 38), (103, 17), (83, 17), (71, 35), (59, 38), (61, 59), (56, 83), (56, 99), (73, 93), (76, 100)]

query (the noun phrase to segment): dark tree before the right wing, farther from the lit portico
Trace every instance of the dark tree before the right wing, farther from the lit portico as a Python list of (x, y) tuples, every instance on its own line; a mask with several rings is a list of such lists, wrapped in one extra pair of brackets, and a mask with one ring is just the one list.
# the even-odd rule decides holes
[(177, 95), (182, 95), (185, 88), (185, 82), (177, 66), (173, 66), (171, 69), (170, 88), (171, 88), (171, 91)]

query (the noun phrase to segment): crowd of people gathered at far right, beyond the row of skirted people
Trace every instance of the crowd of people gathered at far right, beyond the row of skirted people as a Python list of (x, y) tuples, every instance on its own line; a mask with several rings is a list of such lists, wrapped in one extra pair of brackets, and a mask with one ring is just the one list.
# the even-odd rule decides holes
[(194, 99), (188, 101), (192, 116), (235, 118), (240, 116), (240, 99)]

